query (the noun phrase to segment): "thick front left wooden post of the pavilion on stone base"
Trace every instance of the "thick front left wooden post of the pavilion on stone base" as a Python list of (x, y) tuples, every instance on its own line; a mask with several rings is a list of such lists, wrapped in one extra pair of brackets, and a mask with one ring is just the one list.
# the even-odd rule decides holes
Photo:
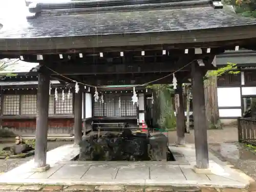
[(43, 172), (49, 169), (46, 164), (47, 135), (48, 135), (48, 110), (49, 110), (49, 85), (50, 77), (38, 74), (37, 90), (37, 115), (35, 130), (35, 169)]

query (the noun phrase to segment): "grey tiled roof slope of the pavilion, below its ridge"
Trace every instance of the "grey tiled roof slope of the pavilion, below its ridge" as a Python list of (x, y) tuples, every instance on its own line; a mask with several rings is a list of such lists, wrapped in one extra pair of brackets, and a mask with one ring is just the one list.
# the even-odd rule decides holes
[[(165, 5), (165, 4), (164, 4)], [(82, 11), (79, 9), (41, 12), (32, 19), (13, 15), (11, 22), (0, 19), (0, 38), (35, 38), (103, 34), (190, 31), (255, 25), (256, 20), (241, 17), (212, 6), (179, 8)], [(15, 18), (18, 17), (18, 18)], [(18, 46), (18, 45), (17, 45)]]

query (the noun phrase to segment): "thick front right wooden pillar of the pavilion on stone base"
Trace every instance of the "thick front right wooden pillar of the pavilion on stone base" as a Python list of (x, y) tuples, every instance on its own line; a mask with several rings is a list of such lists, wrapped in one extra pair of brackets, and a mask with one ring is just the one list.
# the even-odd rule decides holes
[(205, 72), (199, 67), (197, 62), (193, 62), (191, 68), (191, 76), (193, 78), (192, 97), (197, 161), (196, 168), (207, 169), (209, 168), (209, 158), (203, 82)]

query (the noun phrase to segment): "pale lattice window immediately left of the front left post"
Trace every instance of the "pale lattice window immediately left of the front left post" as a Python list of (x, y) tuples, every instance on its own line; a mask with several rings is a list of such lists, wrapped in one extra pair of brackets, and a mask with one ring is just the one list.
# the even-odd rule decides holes
[(20, 103), (20, 115), (36, 115), (36, 95), (22, 95)]

